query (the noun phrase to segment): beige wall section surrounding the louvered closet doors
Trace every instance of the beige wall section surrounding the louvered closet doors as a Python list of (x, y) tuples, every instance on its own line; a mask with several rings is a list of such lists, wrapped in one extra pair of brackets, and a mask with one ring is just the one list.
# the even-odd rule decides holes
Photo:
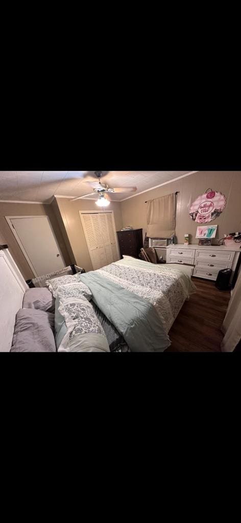
[[(79, 211), (98, 211), (95, 200), (71, 201), (67, 198), (57, 198), (56, 201), (68, 235), (68, 240), (74, 253), (76, 264), (84, 267), (86, 271), (93, 270)], [(108, 207), (108, 211), (109, 210), (112, 210), (114, 213), (116, 231), (119, 231), (122, 228), (120, 202), (111, 202)]]

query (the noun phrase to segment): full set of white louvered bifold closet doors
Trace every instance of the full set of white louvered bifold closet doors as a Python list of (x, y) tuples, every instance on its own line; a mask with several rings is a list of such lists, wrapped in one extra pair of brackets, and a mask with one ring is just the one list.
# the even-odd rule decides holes
[(112, 213), (81, 213), (93, 269), (100, 269), (119, 259)]

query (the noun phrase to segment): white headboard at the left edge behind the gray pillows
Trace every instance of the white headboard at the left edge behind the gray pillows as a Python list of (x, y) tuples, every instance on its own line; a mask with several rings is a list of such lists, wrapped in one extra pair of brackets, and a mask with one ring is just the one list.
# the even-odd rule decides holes
[(16, 313), (28, 289), (7, 245), (0, 245), (0, 352), (12, 346)]

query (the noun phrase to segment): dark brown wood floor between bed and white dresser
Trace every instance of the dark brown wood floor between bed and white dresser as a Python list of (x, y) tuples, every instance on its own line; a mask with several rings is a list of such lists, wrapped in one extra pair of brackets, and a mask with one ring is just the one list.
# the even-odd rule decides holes
[(214, 281), (192, 278), (197, 292), (185, 302), (169, 331), (167, 352), (220, 352), (221, 325), (230, 299), (229, 291), (219, 291)]

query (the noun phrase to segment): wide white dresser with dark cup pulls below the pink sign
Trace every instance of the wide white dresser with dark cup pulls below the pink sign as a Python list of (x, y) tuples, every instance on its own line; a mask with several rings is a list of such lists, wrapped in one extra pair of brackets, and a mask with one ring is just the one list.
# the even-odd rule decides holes
[(232, 269), (234, 271), (241, 253), (241, 243), (233, 247), (225, 245), (168, 245), (167, 263), (179, 263), (193, 265), (192, 276), (216, 280), (221, 269)]

